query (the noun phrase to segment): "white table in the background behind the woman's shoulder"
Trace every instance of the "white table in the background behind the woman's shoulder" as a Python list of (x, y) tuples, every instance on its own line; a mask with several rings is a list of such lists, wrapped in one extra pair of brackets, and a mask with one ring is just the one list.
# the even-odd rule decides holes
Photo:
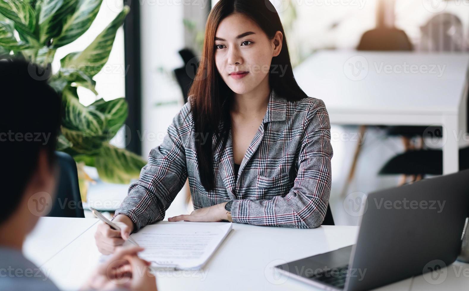
[[(468, 53), (320, 51), (295, 68), (342, 125), (443, 126), (443, 173), (467, 145)], [(439, 66), (439, 67), (438, 67)]]

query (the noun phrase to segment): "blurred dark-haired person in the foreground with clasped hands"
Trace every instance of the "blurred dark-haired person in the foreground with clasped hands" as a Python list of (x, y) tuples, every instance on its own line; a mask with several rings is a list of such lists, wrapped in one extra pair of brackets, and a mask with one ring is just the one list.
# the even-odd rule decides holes
[[(22, 60), (0, 61), (0, 290), (58, 290), (48, 271), (22, 253), (26, 236), (52, 207), (38, 210), (34, 201), (55, 197), (59, 174), (54, 152), (61, 125), (61, 98), (46, 81), (38, 80), (43, 78), (34, 74), (35, 68)], [(149, 262), (137, 256), (142, 250), (116, 249), (81, 289), (156, 290)]]

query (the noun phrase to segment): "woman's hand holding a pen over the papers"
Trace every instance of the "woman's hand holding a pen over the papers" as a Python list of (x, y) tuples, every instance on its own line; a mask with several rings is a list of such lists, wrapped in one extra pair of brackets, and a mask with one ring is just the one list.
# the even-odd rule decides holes
[(94, 234), (96, 246), (101, 254), (112, 254), (117, 246), (121, 246), (130, 233), (134, 230), (134, 223), (129, 216), (120, 214), (113, 219), (113, 223), (117, 224), (121, 231), (113, 230), (108, 224), (100, 223)]

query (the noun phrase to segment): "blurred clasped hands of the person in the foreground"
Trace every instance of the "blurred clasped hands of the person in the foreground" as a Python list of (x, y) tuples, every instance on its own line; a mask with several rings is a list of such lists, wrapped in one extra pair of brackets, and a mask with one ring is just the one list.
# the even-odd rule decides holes
[(119, 247), (98, 266), (81, 290), (111, 290), (119, 287), (133, 291), (156, 291), (156, 278), (149, 272), (150, 262), (140, 259), (141, 247)]

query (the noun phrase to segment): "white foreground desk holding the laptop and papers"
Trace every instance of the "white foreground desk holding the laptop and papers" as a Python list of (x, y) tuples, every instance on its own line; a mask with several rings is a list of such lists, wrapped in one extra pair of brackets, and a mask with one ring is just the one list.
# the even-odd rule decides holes
[[(71, 220), (74, 222), (70, 223)], [(92, 218), (41, 218), (40, 230), (45, 231), (35, 231), (24, 251), (32, 261), (37, 262), (44, 258), (38, 252), (39, 247), (57, 250), (58, 253), (52, 252), (54, 255), (41, 267), (50, 270), (50, 278), (60, 288), (76, 290), (93, 271), (100, 255), (93, 237), (97, 227), (95, 222), (97, 219)], [(81, 232), (82, 226), (89, 228)], [(51, 235), (47, 230), (53, 227), (68, 231)], [(233, 231), (203, 270), (158, 271), (158, 288), (160, 291), (317, 290), (274, 273), (272, 267), (351, 245), (356, 240), (357, 231), (356, 226), (321, 226), (298, 230), (233, 224)], [(453, 271), (453, 266), (458, 272)], [(378, 290), (467, 290), (469, 264), (455, 263), (447, 270), (446, 280), (438, 285), (429, 284), (424, 276), (418, 276)]]

